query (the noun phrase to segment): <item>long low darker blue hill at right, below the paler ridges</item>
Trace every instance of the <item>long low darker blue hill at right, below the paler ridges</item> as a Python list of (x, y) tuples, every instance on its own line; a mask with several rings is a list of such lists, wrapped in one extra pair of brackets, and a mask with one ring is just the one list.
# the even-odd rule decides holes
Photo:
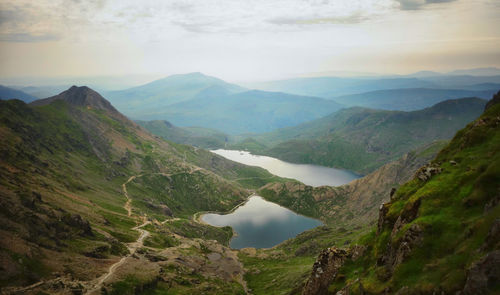
[[(461, 97), (488, 99), (500, 89), (500, 84), (486, 84), (490, 90), (472, 91), (458, 89), (387, 89), (333, 97), (336, 102), (347, 106), (361, 106), (374, 109), (414, 111), (430, 107), (441, 101)], [(480, 87), (478, 85), (477, 87)]]

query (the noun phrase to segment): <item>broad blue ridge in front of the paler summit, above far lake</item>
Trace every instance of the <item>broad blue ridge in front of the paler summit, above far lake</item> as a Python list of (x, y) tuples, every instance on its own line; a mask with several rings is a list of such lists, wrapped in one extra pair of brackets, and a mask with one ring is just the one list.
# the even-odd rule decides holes
[(168, 120), (178, 126), (203, 126), (240, 134), (267, 132), (321, 118), (342, 106), (318, 97), (259, 90), (232, 95), (202, 95), (158, 109), (145, 119)]

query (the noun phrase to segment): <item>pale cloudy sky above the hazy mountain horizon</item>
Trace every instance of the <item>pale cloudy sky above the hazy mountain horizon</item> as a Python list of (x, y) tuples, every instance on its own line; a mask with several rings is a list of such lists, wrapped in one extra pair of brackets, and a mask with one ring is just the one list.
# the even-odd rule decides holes
[(0, 78), (500, 66), (498, 0), (0, 0)]

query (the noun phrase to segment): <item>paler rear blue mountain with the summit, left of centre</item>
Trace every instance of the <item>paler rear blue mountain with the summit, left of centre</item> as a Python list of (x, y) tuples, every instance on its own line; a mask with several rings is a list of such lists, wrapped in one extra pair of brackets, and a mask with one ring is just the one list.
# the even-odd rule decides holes
[(125, 90), (109, 91), (105, 95), (120, 111), (141, 119), (158, 109), (199, 96), (203, 91), (211, 95), (214, 92), (227, 95), (245, 89), (202, 73), (190, 73), (169, 76)]

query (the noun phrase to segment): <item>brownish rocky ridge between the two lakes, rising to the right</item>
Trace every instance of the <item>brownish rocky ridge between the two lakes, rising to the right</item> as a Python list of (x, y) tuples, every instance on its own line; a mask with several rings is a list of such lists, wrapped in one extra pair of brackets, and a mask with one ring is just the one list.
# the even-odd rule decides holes
[(300, 182), (270, 183), (259, 189), (266, 199), (336, 227), (366, 225), (377, 218), (378, 207), (411, 179), (446, 144), (437, 141), (405, 154), (376, 171), (338, 187), (311, 187)]

